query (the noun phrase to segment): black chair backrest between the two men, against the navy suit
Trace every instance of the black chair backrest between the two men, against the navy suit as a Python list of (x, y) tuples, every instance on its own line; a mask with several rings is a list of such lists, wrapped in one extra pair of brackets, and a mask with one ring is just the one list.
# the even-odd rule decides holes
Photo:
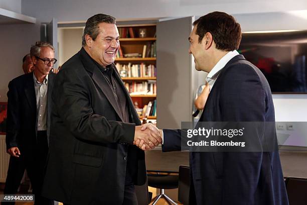
[(178, 200), (184, 205), (189, 205), (190, 193), (190, 167), (179, 166)]

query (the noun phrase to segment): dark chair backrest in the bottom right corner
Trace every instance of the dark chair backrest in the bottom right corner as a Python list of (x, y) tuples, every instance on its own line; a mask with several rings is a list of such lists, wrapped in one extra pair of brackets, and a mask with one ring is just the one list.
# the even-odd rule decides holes
[(285, 180), (290, 205), (307, 204), (307, 179), (287, 177)]

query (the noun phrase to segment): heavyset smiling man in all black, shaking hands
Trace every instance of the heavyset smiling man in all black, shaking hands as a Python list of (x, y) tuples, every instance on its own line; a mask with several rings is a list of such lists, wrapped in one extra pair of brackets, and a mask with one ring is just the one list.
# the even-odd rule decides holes
[(57, 75), (46, 197), (73, 205), (137, 204), (134, 184), (145, 183), (146, 169), (133, 142), (144, 139), (154, 148), (162, 139), (140, 131), (113, 63), (118, 47), (115, 18), (97, 14), (86, 22), (81, 50)]

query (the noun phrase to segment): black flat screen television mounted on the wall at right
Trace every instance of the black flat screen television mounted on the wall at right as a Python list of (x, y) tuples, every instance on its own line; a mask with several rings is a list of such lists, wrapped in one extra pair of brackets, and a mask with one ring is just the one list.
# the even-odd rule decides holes
[(307, 93), (307, 31), (243, 33), (238, 52), (262, 71), (272, 93)]

